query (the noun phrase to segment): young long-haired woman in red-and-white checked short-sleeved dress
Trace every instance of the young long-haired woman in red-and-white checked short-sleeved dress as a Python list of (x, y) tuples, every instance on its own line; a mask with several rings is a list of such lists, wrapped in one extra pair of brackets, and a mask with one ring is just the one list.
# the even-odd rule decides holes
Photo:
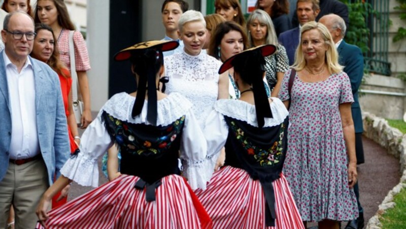
[[(75, 30), (66, 5), (63, 0), (38, 0), (35, 10), (35, 23), (49, 25), (57, 37), (60, 60), (70, 69), (70, 32)], [(83, 113), (80, 120), (81, 128), (86, 128), (92, 121), (90, 111), (90, 90), (86, 71), (90, 70), (89, 54), (82, 33), (79, 31), (73, 34), (73, 44), (75, 50), (75, 65), (78, 75), (79, 91), (83, 100)], [(72, 72), (71, 72), (72, 75)]]

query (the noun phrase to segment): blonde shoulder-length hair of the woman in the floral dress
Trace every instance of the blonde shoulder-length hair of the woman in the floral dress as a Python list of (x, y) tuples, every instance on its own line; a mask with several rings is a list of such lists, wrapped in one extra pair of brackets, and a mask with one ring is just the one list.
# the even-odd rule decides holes
[[(317, 29), (319, 30), (322, 39), (324, 40), (325, 44), (327, 45), (327, 51), (325, 54), (325, 63), (327, 65), (327, 69), (330, 73), (339, 73), (343, 70), (343, 66), (339, 64), (339, 53), (337, 52), (335, 48), (335, 44), (333, 42), (333, 39), (331, 37), (330, 32), (321, 23), (311, 21), (306, 24), (304, 24), (301, 29), (300, 29), (300, 37), (303, 37), (303, 33), (307, 32), (312, 29)], [(301, 40), (301, 39), (300, 39)], [(296, 71), (302, 70), (304, 67), (306, 67), (307, 62), (304, 59), (303, 56), (303, 50), (301, 48), (301, 41), (299, 42), (299, 45), (296, 49), (295, 53), (295, 62), (292, 65), (292, 68), (294, 68)]]

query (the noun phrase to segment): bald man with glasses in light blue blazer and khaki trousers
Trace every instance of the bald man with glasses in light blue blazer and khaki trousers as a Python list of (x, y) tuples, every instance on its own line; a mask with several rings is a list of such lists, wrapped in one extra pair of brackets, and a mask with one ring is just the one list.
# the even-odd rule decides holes
[(0, 52), (0, 228), (11, 204), (15, 228), (34, 228), (41, 196), (70, 155), (59, 78), (32, 59), (34, 23), (26, 13), (6, 16)]

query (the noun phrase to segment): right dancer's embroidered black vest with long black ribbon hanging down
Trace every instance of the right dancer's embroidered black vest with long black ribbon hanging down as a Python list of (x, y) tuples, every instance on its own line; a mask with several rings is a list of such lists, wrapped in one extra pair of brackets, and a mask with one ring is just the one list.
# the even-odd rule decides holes
[(224, 117), (228, 127), (225, 165), (241, 168), (259, 180), (265, 195), (265, 223), (275, 226), (275, 194), (272, 182), (280, 177), (287, 148), (288, 118), (274, 127), (254, 127)]

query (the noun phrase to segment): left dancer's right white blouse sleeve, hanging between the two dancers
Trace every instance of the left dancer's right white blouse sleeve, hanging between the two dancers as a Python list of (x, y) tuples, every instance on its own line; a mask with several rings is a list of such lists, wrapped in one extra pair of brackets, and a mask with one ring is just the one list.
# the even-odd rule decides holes
[(206, 184), (209, 181), (205, 163), (207, 144), (191, 110), (186, 113), (180, 151), (183, 176), (188, 180), (190, 187), (192, 189), (206, 189)]

